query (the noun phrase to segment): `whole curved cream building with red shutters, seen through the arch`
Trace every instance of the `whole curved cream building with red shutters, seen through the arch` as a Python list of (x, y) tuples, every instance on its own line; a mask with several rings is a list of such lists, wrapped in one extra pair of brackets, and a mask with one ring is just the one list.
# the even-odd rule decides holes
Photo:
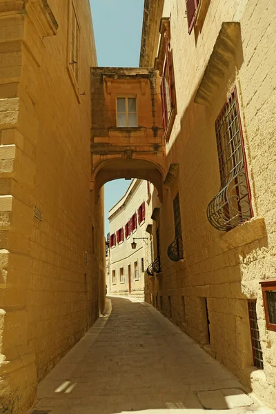
[[(150, 226), (152, 184), (133, 179), (122, 197), (109, 212), (110, 295), (124, 295), (144, 300), (145, 272), (151, 262)], [(133, 242), (135, 248), (132, 248)]]

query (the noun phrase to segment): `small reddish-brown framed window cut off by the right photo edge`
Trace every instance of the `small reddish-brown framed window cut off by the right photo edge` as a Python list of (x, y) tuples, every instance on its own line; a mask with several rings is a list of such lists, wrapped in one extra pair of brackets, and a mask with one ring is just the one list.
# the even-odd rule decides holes
[(268, 279), (260, 284), (264, 299), (266, 328), (268, 331), (276, 331), (276, 279)]

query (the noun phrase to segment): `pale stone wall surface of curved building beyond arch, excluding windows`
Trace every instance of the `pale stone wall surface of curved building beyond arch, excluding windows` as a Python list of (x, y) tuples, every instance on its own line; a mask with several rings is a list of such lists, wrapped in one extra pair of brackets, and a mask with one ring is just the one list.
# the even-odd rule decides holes
[[(150, 184), (150, 188), (153, 188)], [(138, 223), (138, 208), (145, 201), (145, 220)], [(127, 221), (137, 213), (137, 229), (128, 238), (125, 237), (125, 225)], [(110, 266), (108, 292), (110, 295), (128, 295), (129, 293), (129, 268), (130, 266), (130, 285), (131, 296), (144, 299), (145, 273), (146, 268), (151, 262), (150, 257), (150, 235), (146, 232), (148, 224), (151, 223), (150, 197), (148, 196), (147, 182), (142, 180), (132, 180), (126, 194), (122, 197), (109, 212), (109, 231), (110, 235), (116, 233), (119, 228), (124, 228), (124, 242), (117, 243), (110, 248)], [(144, 237), (146, 240), (137, 239), (136, 249), (132, 249), (131, 243), (134, 237)], [(144, 271), (141, 260), (144, 259)], [(135, 279), (135, 262), (138, 264), (138, 278)], [(120, 281), (120, 268), (124, 268), (124, 283)], [(112, 272), (115, 270), (116, 282), (112, 281)]]

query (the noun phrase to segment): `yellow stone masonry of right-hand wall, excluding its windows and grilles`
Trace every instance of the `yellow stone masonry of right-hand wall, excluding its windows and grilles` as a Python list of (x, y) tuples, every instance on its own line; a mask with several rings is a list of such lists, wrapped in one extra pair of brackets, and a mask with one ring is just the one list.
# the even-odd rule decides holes
[[(153, 197), (153, 207), (160, 207), (159, 224), (154, 227), (159, 225), (161, 233), (162, 273), (146, 281), (146, 298), (153, 302), (158, 297), (159, 310), (259, 397), (275, 406), (276, 333), (266, 330), (259, 286), (261, 280), (275, 278), (275, 5), (265, 0), (200, 3), (206, 6), (205, 16), (189, 35), (185, 1), (164, 2), (163, 17), (170, 17), (177, 99), (177, 116), (166, 153), (168, 166), (179, 164), (179, 175), (170, 187), (164, 187), (163, 204), (159, 204), (156, 194)], [(229, 58), (223, 55), (222, 44), (222, 56), (226, 61), (230, 59), (228, 66), (222, 75), (214, 75), (213, 84), (209, 83), (210, 101), (195, 103), (224, 22), (240, 23), (237, 48)], [(157, 33), (151, 35), (153, 39)], [(223, 233), (210, 226), (206, 208), (219, 190), (215, 119), (234, 85), (242, 117), (254, 218)], [(175, 237), (172, 200), (177, 191), (184, 259), (175, 263), (168, 259), (167, 248)], [(210, 319), (210, 344), (204, 298)], [(264, 371), (253, 367), (247, 299), (257, 299)]]

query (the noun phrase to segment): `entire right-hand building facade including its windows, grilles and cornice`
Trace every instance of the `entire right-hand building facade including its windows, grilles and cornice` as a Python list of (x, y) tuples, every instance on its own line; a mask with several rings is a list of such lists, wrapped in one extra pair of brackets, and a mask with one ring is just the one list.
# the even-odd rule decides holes
[(146, 301), (274, 407), (275, 14), (265, 0), (146, 1), (140, 59), (161, 77), (166, 141)]

